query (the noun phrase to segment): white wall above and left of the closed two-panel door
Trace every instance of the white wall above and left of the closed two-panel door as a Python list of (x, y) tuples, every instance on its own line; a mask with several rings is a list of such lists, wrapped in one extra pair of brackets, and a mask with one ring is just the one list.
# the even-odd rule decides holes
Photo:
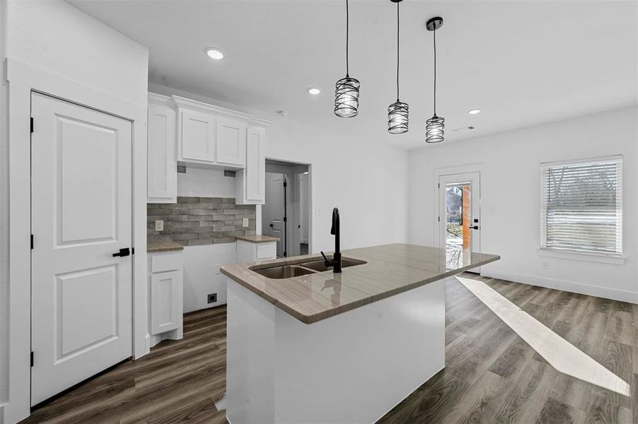
[[(65, 1), (0, 1), (0, 404), (9, 400), (6, 367), (11, 367), (6, 338), (8, 164), (2, 163), (7, 151), (6, 57), (143, 107), (149, 61), (146, 47)], [(28, 389), (28, 382), (19, 384), (23, 383)], [(28, 403), (24, 408), (23, 401), (12, 396), (12, 415), (4, 417), (6, 422), (28, 414)], [(18, 409), (17, 403), (21, 404)]]

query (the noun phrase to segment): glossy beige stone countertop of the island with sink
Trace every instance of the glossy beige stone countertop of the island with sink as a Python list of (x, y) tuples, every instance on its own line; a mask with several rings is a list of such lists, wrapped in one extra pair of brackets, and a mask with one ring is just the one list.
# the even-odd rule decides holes
[(323, 259), (316, 255), (272, 259), (253, 264), (230, 264), (221, 272), (253, 293), (306, 324), (341, 314), (383, 298), (405, 292), (500, 259), (494, 254), (460, 252), (456, 264), (446, 264), (446, 251), (418, 245), (381, 245), (348, 249), (342, 261), (365, 264), (349, 266), (342, 273), (324, 271), (291, 278), (267, 278), (251, 269), (298, 265)]

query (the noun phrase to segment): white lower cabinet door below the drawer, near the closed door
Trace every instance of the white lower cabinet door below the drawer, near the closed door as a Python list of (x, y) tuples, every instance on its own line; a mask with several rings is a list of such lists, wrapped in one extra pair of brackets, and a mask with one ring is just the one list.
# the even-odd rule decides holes
[(182, 325), (182, 271), (151, 274), (151, 334)]

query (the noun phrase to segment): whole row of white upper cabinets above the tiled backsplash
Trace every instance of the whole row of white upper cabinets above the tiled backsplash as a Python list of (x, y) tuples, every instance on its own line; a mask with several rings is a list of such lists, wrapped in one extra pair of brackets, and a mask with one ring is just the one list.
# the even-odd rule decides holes
[(177, 165), (236, 171), (236, 202), (265, 201), (270, 122), (187, 98), (149, 93), (149, 203), (175, 203)]

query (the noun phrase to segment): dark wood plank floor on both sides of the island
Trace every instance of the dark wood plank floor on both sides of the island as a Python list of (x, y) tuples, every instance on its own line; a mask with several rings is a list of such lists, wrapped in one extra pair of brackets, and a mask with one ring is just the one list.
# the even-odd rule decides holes
[[(446, 283), (447, 367), (379, 423), (638, 422), (638, 306), (473, 274), (631, 384), (622, 396), (557, 372), (468, 289)], [(226, 307), (35, 409), (22, 423), (227, 423)], [(636, 418), (634, 418), (636, 417)], [(234, 423), (233, 423), (234, 424)]]

